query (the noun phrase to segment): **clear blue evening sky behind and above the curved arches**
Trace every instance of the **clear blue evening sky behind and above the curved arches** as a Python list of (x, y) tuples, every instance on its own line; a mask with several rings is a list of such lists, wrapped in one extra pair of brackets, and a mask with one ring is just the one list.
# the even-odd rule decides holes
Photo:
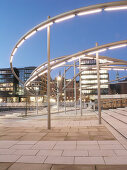
[[(53, 17), (76, 8), (113, 0), (0, 0), (0, 68), (10, 67), (16, 42), (27, 31)], [(127, 10), (78, 16), (51, 27), (51, 58), (127, 39)], [(38, 66), (47, 60), (46, 30), (26, 40), (14, 57), (15, 67)], [(103, 55), (127, 60), (127, 48)]]

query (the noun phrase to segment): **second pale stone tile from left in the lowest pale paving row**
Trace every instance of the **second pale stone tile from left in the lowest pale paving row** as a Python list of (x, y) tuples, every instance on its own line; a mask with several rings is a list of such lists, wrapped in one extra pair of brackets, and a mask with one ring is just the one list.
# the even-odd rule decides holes
[(43, 163), (46, 156), (22, 156), (16, 162), (23, 163)]

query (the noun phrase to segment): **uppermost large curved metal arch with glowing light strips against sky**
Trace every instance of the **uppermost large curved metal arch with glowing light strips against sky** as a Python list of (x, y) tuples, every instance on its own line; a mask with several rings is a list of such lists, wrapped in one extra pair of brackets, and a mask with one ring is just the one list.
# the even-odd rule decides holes
[(19, 39), (19, 41), (16, 43), (16, 45), (14, 46), (14, 48), (11, 52), (11, 56), (10, 56), (10, 67), (11, 67), (12, 73), (18, 79), (18, 81), (20, 81), (24, 85), (24, 82), (19, 79), (19, 77), (16, 75), (16, 73), (13, 69), (12, 61), (13, 61), (13, 57), (14, 57), (17, 49), (24, 43), (25, 40), (27, 40), (29, 37), (34, 35), (37, 31), (40, 31), (44, 28), (48, 28), (49, 26), (51, 26), (54, 23), (58, 23), (58, 22), (67, 20), (67, 19), (73, 18), (75, 16), (88, 15), (91, 13), (98, 13), (98, 12), (102, 12), (103, 10), (110, 11), (110, 10), (119, 10), (119, 9), (127, 9), (127, 1), (116, 1), (116, 2), (103, 3), (103, 4), (97, 4), (97, 5), (92, 5), (92, 6), (88, 6), (88, 7), (78, 8), (78, 9), (75, 9), (75, 10), (72, 10), (69, 12), (62, 13), (55, 17), (49, 18), (48, 20), (40, 23), (39, 25), (35, 26), (30, 31), (28, 31), (24, 36), (22, 36)]

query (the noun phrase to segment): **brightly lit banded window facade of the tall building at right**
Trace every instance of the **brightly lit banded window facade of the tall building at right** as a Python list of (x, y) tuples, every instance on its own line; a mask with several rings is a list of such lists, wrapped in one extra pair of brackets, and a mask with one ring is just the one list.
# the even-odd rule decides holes
[[(104, 63), (103, 60), (100, 60), (100, 63)], [(96, 65), (96, 60), (94, 59), (81, 59), (81, 69), (84, 69), (86, 66)], [(81, 84), (82, 84), (82, 93), (85, 95), (96, 95), (97, 94), (97, 71), (96, 70), (86, 70), (81, 73)], [(101, 94), (108, 94), (108, 85), (109, 74), (107, 70), (100, 70), (100, 88)]]

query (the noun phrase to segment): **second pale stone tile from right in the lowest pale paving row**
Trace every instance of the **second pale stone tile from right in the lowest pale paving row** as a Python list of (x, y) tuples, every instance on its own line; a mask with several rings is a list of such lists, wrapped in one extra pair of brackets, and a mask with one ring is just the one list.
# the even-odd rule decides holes
[(75, 164), (105, 164), (102, 157), (75, 157)]

